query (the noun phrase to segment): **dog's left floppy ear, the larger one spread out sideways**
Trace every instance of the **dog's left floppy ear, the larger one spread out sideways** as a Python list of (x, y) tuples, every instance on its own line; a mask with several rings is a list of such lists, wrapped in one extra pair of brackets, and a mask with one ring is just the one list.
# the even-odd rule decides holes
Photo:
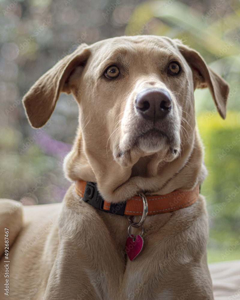
[(74, 70), (80, 75), (89, 55), (88, 46), (80, 45), (73, 53), (58, 61), (30, 88), (22, 101), (32, 127), (40, 128), (46, 124), (52, 115), (60, 93), (69, 94), (71, 92), (70, 79)]

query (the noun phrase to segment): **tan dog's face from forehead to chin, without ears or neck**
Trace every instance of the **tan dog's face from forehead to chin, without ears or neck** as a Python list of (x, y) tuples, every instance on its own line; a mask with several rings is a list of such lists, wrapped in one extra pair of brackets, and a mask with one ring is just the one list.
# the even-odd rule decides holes
[(191, 70), (180, 52), (151, 36), (110, 39), (92, 52), (77, 87), (83, 137), (98, 140), (101, 128), (102, 155), (122, 166), (153, 154), (176, 159), (187, 142), (181, 127), (194, 128)]

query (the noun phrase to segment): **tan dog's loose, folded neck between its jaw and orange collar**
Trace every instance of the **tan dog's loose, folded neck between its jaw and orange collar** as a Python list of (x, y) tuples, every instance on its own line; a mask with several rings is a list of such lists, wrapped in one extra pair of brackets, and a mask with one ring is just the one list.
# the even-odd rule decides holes
[(172, 162), (157, 161), (157, 155), (151, 155), (141, 157), (127, 170), (126, 167), (116, 167), (117, 163), (110, 155), (108, 158), (97, 157), (94, 147), (87, 149), (79, 134), (65, 159), (65, 174), (71, 181), (82, 179), (97, 182), (100, 190), (104, 191), (101, 190), (102, 194), (109, 196), (108, 199), (112, 195), (108, 194), (107, 189), (115, 191), (120, 187), (121, 192), (113, 196), (113, 202), (118, 202), (122, 197), (128, 199), (132, 196), (131, 190), (136, 194), (141, 188), (149, 191), (148, 195), (167, 194), (179, 189), (191, 190), (202, 184), (206, 176), (201, 141), (196, 129), (191, 141), (185, 144), (181, 156)]

